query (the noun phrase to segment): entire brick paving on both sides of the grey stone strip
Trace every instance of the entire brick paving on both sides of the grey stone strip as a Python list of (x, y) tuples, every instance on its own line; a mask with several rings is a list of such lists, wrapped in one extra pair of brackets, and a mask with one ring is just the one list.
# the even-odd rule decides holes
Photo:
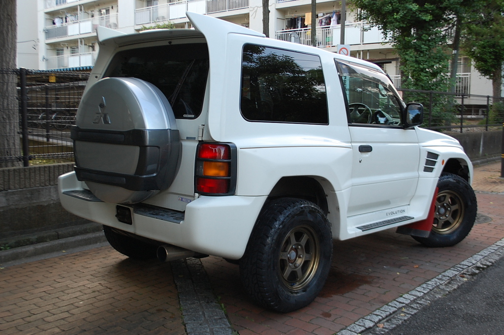
[[(203, 259), (240, 335), (334, 334), (504, 237), (500, 163), (477, 167), (478, 223), (461, 243), (425, 248), (394, 230), (335, 243), (330, 278), (309, 306), (278, 314), (251, 303), (238, 266)], [(488, 192), (498, 192), (488, 193)], [(185, 333), (170, 263), (138, 262), (111, 247), (2, 268), (0, 333)]]

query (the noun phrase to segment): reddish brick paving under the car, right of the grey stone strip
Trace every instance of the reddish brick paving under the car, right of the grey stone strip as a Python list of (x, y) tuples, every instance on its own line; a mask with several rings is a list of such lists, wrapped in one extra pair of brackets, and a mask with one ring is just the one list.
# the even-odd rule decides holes
[(331, 273), (321, 295), (292, 313), (278, 314), (251, 303), (237, 265), (217, 257), (202, 261), (240, 335), (334, 334), (504, 238), (504, 180), (499, 175), (500, 162), (476, 167), (473, 187), (482, 191), (477, 198), (483, 216), (464, 241), (454, 247), (426, 248), (391, 229), (335, 242)]

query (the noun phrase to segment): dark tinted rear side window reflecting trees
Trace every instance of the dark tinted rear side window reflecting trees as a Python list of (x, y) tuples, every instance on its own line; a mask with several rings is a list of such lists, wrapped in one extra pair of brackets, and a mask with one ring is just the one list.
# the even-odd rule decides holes
[(248, 121), (328, 124), (318, 56), (245, 44), (240, 110)]

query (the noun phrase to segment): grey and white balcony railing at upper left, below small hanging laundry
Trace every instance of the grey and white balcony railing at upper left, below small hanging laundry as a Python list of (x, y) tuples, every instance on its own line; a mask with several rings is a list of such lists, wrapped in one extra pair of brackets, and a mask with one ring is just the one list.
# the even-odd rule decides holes
[(45, 39), (50, 40), (54, 38), (94, 33), (96, 31), (96, 27), (98, 26), (112, 29), (117, 28), (117, 14), (62, 23), (60, 26), (52, 25), (45, 27)]

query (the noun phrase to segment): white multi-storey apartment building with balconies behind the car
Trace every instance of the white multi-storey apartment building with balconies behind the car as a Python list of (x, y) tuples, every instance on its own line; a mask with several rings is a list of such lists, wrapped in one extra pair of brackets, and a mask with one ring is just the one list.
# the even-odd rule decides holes
[[(271, 38), (310, 44), (310, 0), (270, 0), (269, 10)], [(339, 1), (317, 0), (318, 47), (337, 52), (341, 10)], [(143, 26), (171, 22), (176, 28), (191, 28), (186, 11), (263, 31), (262, 0), (18, 0), (18, 65), (91, 69), (99, 48), (96, 27), (133, 33)], [(377, 28), (355, 17), (356, 13), (347, 12), (343, 44), (350, 45), (350, 55), (379, 64), (399, 86), (395, 50)], [(461, 57), (459, 62), (457, 92), (489, 94), (491, 83), (472, 69), (469, 59)]]

